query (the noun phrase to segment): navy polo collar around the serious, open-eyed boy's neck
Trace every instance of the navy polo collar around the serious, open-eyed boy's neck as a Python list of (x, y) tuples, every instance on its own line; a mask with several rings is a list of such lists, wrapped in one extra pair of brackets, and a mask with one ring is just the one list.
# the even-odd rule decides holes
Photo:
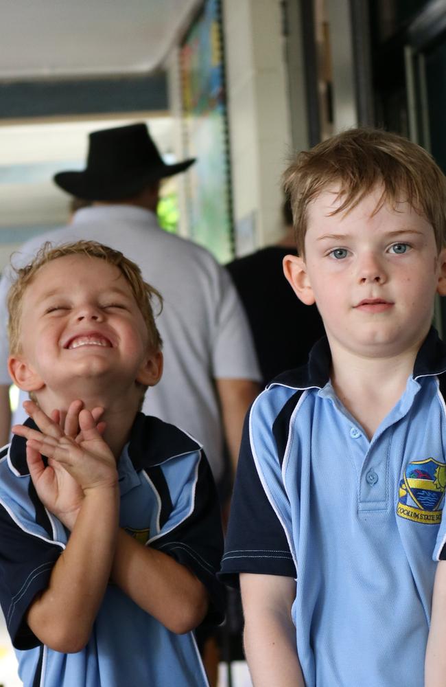
[[(268, 386), (277, 384), (293, 389), (322, 389), (330, 380), (330, 370), (330, 347), (327, 337), (322, 337), (310, 351), (307, 365), (279, 374)], [(413, 378), (434, 376), (443, 372), (446, 372), (446, 346), (434, 327), (431, 327), (416, 355)]]

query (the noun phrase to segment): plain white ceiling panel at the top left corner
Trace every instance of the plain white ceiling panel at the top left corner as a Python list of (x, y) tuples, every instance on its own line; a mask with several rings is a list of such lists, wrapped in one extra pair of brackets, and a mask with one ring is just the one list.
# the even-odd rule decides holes
[(0, 79), (159, 68), (200, 0), (0, 0)]

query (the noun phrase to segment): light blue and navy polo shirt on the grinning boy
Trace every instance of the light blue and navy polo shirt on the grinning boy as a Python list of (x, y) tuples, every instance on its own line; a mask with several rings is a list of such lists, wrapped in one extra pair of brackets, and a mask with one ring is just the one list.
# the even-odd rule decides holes
[[(0, 460), (0, 601), (25, 687), (207, 686), (193, 633), (170, 632), (113, 584), (82, 651), (52, 651), (32, 634), (27, 609), (47, 587), (67, 531), (38, 500), (24, 449), (14, 437)], [(138, 414), (118, 472), (120, 526), (187, 565), (208, 589), (209, 618), (220, 621), (220, 509), (200, 446), (173, 425)]]

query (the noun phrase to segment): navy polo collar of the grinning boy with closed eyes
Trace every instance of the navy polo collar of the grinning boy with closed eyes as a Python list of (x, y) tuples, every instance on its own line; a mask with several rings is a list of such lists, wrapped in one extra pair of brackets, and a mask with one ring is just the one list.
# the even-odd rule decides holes
[[(27, 427), (38, 427), (31, 418), (24, 423)], [(130, 440), (126, 446), (128, 456), (136, 471), (147, 470), (160, 465), (170, 458), (183, 453), (199, 451), (201, 445), (174, 425), (159, 418), (138, 413), (130, 430)], [(125, 449), (124, 449), (125, 451)], [(26, 462), (26, 440), (14, 436), (10, 443), (8, 460), (14, 472), (21, 477), (30, 474)]]

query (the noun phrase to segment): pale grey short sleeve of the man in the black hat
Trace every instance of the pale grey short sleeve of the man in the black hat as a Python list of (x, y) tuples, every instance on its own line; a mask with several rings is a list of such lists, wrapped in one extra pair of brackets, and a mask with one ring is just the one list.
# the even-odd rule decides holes
[(253, 336), (242, 302), (226, 269), (219, 269), (220, 301), (215, 313), (213, 376), (260, 381)]

